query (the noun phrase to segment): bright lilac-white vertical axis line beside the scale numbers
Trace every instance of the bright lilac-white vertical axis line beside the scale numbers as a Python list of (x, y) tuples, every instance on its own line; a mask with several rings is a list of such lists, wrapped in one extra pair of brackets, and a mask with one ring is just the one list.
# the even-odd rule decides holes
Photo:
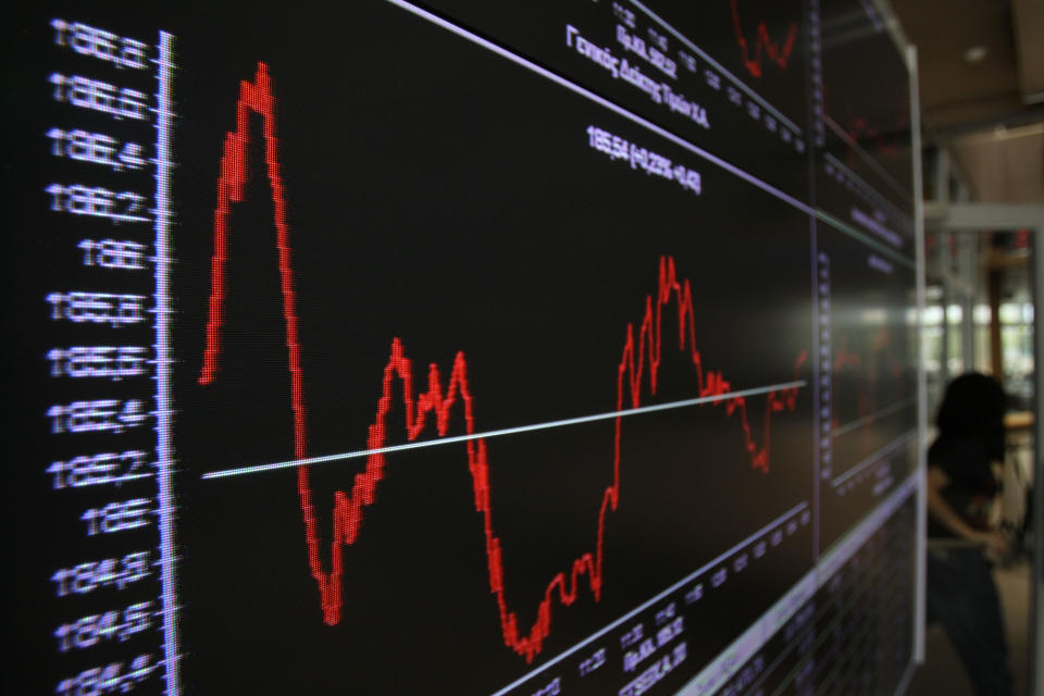
[(174, 495), (171, 476), (174, 451), (171, 445), (170, 359), (170, 175), (171, 82), (174, 37), (160, 32), (157, 65), (156, 108), (156, 432), (157, 480), (159, 482), (160, 573), (163, 587), (163, 674), (165, 696), (177, 696), (177, 605), (174, 591)]

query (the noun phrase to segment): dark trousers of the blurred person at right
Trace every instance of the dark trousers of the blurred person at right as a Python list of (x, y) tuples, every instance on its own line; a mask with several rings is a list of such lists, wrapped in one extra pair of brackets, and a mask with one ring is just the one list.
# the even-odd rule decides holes
[(975, 693), (1012, 689), (1000, 601), (990, 562), (978, 549), (928, 552), (928, 622), (942, 624)]

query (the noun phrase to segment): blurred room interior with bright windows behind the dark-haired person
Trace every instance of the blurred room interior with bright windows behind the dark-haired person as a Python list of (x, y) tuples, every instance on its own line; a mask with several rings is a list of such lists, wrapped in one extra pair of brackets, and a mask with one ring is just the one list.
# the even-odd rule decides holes
[[(1035, 419), (1034, 254), (1044, 251), (1044, 2), (893, 0), (920, 71), (929, 420), (967, 371), (1009, 396), (996, 523), (1014, 539), (996, 569), (1016, 693), (1032, 692)], [(1035, 297), (1036, 296), (1036, 297)], [(971, 694), (942, 630), (929, 627), (911, 694)], [(1040, 681), (1040, 680), (1037, 680)]]

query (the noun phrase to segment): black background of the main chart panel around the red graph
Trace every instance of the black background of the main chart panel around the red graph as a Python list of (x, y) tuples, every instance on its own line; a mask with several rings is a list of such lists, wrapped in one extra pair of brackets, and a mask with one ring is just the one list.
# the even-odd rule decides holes
[[(447, 4), (447, 12), (453, 9)], [(492, 21), (488, 27), (477, 15), (469, 22), (464, 10), (456, 10), (465, 26), (497, 38)], [(575, 20), (570, 12), (586, 16), (589, 9), (563, 8), (561, 16), (548, 11), (550, 17), (515, 14), (529, 32), (546, 25), (554, 37), (548, 46), (558, 52), (519, 50), (552, 69), (561, 61), (562, 72), (608, 94), (598, 78), (581, 79), (593, 69), (561, 46), (562, 18)], [(664, 7), (661, 15), (670, 20), (673, 12)], [(82, 8), (66, 14), (146, 40), (157, 26), (176, 37), (172, 343), (177, 589), (188, 693), (346, 686), (432, 693), (449, 685), (487, 693), (527, 669), (500, 639), (462, 446), (388, 457), (377, 501), (345, 555), (346, 609), (335, 627), (322, 624), (308, 574), (294, 470), (200, 480), (215, 469), (293, 457), (275, 229), (258, 116), (250, 122), (246, 200), (235, 206), (229, 224), (221, 372), (212, 386), (197, 383), (221, 144), (235, 124), (239, 80), (252, 80), (259, 61), (270, 66), (277, 99), (310, 453), (364, 448), (393, 337), (413, 360), (418, 385), (430, 362), (445, 381), (456, 352), (467, 355), (476, 430), (612, 410), (627, 323), (637, 328), (664, 254), (692, 283), (705, 366), (720, 370), (734, 388), (790, 381), (797, 356), (815, 349), (815, 226), (807, 213), (400, 9), (358, 3), (324, 17), (297, 8), (211, 8), (204, 18), (187, 10), (165, 10), (160, 17), (140, 10), (91, 16)], [(17, 40), (53, 64), (42, 48), (47, 20), (42, 12), (25, 17), (36, 29)], [(608, 17), (600, 21), (611, 26)], [(684, 22), (679, 26), (686, 29)], [(724, 58), (724, 48), (721, 55), (726, 64), (734, 60)], [(804, 70), (796, 53), (791, 84)], [(34, 95), (30, 103), (46, 103), (45, 71), (12, 77)], [(630, 86), (614, 88), (623, 90), (617, 101), (647, 109), (647, 117), (657, 113), (639, 107), (643, 97)], [(792, 89), (784, 91), (781, 108), (805, 126), (804, 103)], [(35, 134), (30, 114), (15, 116), (15, 126)], [(678, 128), (671, 117), (654, 120)], [(723, 107), (710, 117), (710, 133), (694, 135), (694, 141), (810, 200), (808, 157), (759, 145), (749, 125)], [(591, 125), (699, 171), (700, 196), (589, 148)], [(29, 173), (12, 178), (14, 190), (34, 206), (17, 210), (26, 223), (45, 204), (30, 164), (40, 150), (12, 142), (17, 171)], [(33, 259), (62, 249), (46, 234), (16, 244), (25, 244), (24, 256)], [(47, 336), (53, 330), (40, 319), (37, 298), (54, 278), (42, 263), (37, 268), (42, 272), (10, 271), (27, 299), (9, 310), (9, 321)], [(688, 398), (696, 386), (691, 365), (674, 349), (672, 311), (664, 316), (660, 385), (656, 396), (644, 394), (643, 403)], [(90, 341), (89, 332), (80, 336)], [(54, 391), (39, 390), (46, 378), (39, 345), (11, 348), (35, 365), (14, 382), (20, 394), (32, 395), (29, 413), (55, 400)], [(809, 362), (798, 376), (812, 381)], [(749, 407), (760, 438), (763, 397), (751, 397)], [(455, 412), (450, 434), (463, 432), (459, 417)], [(15, 451), (33, 455), (46, 424), (35, 418), (25, 423)], [(573, 607), (556, 604), (552, 632), (536, 663), (795, 505), (810, 502), (812, 389), (801, 390), (794, 413), (774, 414), (772, 427), (766, 474), (751, 470), (738, 420), (720, 407), (625, 421), (621, 506), (607, 517), (601, 600), (594, 602), (585, 586)], [(388, 430), (389, 444), (405, 439), (400, 413), (393, 413)], [(508, 601), (527, 629), (548, 580), (593, 550), (601, 494), (611, 483), (612, 421), (494, 438), (488, 447)], [(324, 568), (333, 492), (347, 487), (363, 463), (312, 469)], [(25, 496), (12, 510), (46, 505), (53, 495), (35, 470), (25, 482)], [(24, 557), (37, 539), (52, 545), (29, 561), (33, 580), (25, 586), (37, 597), (33, 605), (53, 601), (37, 580), (55, 566), (51, 559), (76, 552), (75, 542), (62, 542), (64, 551), (54, 545), (67, 534), (67, 522), (45, 519), (17, 542)], [(693, 669), (811, 568), (813, 539), (801, 534), (807, 538), (770, 568), (737, 581), (735, 602), (704, 609), (706, 625), (688, 629)], [(50, 625), (66, 613), (53, 610)], [(46, 655), (50, 629), (38, 627), (39, 616), (28, 614), (18, 612), (29, 645), (42, 646), (39, 654)], [(40, 679), (49, 685), (51, 678)]]

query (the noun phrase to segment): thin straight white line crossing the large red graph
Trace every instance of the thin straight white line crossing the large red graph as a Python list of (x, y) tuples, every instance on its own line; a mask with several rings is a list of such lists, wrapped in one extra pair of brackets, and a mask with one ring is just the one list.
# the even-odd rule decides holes
[(576, 418), (567, 418), (558, 421), (546, 421), (544, 423), (533, 423), (531, 425), (519, 425), (517, 427), (504, 427), (500, 430), (486, 431), (484, 433), (471, 433), (470, 435), (453, 435), (450, 437), (440, 437), (437, 439), (425, 439), (419, 443), (406, 443), (405, 445), (391, 445), (388, 447), (378, 447), (376, 449), (359, 449), (336, 455), (323, 455), (320, 457), (308, 457), (307, 459), (291, 459), (288, 461), (272, 462), (269, 464), (256, 464), (252, 467), (239, 467), (234, 469), (222, 469), (211, 471), (202, 475), (202, 478), (226, 478), (228, 476), (241, 476), (245, 474), (257, 474), (278, 469), (288, 469), (290, 467), (309, 467), (312, 464), (325, 464), (333, 461), (344, 461), (346, 459), (359, 459), (370, 457), (371, 455), (387, 455), (408, 449), (421, 449), (424, 447), (435, 447), (437, 445), (452, 445), (453, 443), (465, 443), (472, 439), (488, 439), (490, 437), (500, 437), (502, 435), (517, 435), (520, 433), (532, 433), (534, 431), (544, 431), (552, 427), (563, 427), (566, 425), (580, 425), (583, 423), (594, 423), (627, 415), (639, 415), (642, 413), (654, 413), (656, 411), (668, 411), (672, 409), (699, 406), (703, 403), (713, 403), (716, 401), (725, 401), (758, 394), (768, 394), (769, 391), (779, 391), (781, 389), (791, 389), (794, 387), (804, 387), (807, 382), (798, 380), (795, 382), (783, 382), (781, 384), (771, 384), (763, 387), (754, 387), (750, 389), (739, 389), (728, 394), (718, 394), (714, 396), (704, 396), (694, 399), (682, 399), (681, 401), (670, 401), (668, 403), (652, 403), (650, 406), (641, 406), (635, 409), (623, 409), (620, 411), (607, 411), (605, 413), (595, 413), (594, 415), (580, 415)]

